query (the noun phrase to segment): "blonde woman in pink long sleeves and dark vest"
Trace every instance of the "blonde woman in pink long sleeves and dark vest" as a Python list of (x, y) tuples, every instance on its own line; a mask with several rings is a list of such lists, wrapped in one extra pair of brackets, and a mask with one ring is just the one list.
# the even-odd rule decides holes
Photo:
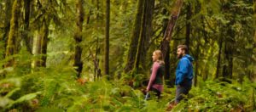
[(151, 68), (151, 76), (146, 91), (156, 92), (156, 96), (160, 99), (160, 93), (163, 91), (163, 76), (165, 71), (165, 62), (163, 61), (162, 52), (155, 50), (152, 59), (154, 64)]

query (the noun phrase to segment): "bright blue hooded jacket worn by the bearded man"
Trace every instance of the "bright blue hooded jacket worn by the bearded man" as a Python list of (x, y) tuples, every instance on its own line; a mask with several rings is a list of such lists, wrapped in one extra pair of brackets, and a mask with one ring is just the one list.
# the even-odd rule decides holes
[(179, 60), (176, 69), (175, 85), (192, 86), (193, 79), (193, 66), (192, 61), (194, 59), (186, 54)]

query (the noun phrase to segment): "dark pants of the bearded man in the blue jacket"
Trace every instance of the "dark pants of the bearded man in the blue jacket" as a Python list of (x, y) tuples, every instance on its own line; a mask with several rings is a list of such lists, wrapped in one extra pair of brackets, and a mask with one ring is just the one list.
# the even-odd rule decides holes
[(189, 94), (190, 89), (191, 86), (177, 86), (175, 103), (178, 104), (185, 96), (187, 96)]

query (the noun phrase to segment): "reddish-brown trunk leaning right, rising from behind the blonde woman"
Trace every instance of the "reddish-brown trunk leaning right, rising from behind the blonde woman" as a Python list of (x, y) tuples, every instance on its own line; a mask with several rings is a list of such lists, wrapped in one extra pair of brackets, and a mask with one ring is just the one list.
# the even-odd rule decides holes
[[(163, 53), (164, 59), (166, 58), (166, 55), (170, 55), (168, 51), (170, 49), (170, 41), (172, 39), (172, 32), (173, 32), (174, 26), (176, 25), (176, 21), (177, 21), (177, 18), (179, 16), (182, 6), (183, 6), (183, 0), (177, 0), (174, 8), (172, 10), (172, 14), (171, 14), (170, 20), (167, 25), (164, 39), (161, 42), (160, 49)], [(169, 62), (165, 62), (165, 63), (169, 63)]]

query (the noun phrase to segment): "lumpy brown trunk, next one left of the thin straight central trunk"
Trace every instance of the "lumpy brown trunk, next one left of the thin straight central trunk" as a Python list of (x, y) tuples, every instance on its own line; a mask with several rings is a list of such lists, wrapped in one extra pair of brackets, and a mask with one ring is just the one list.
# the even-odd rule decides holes
[(81, 61), (81, 55), (83, 48), (80, 46), (80, 43), (83, 41), (82, 31), (83, 31), (83, 22), (84, 22), (84, 0), (77, 1), (77, 31), (74, 34), (75, 40), (75, 53), (74, 53), (74, 64), (75, 70), (78, 72), (78, 78), (81, 76), (81, 72), (83, 70), (83, 62)]

